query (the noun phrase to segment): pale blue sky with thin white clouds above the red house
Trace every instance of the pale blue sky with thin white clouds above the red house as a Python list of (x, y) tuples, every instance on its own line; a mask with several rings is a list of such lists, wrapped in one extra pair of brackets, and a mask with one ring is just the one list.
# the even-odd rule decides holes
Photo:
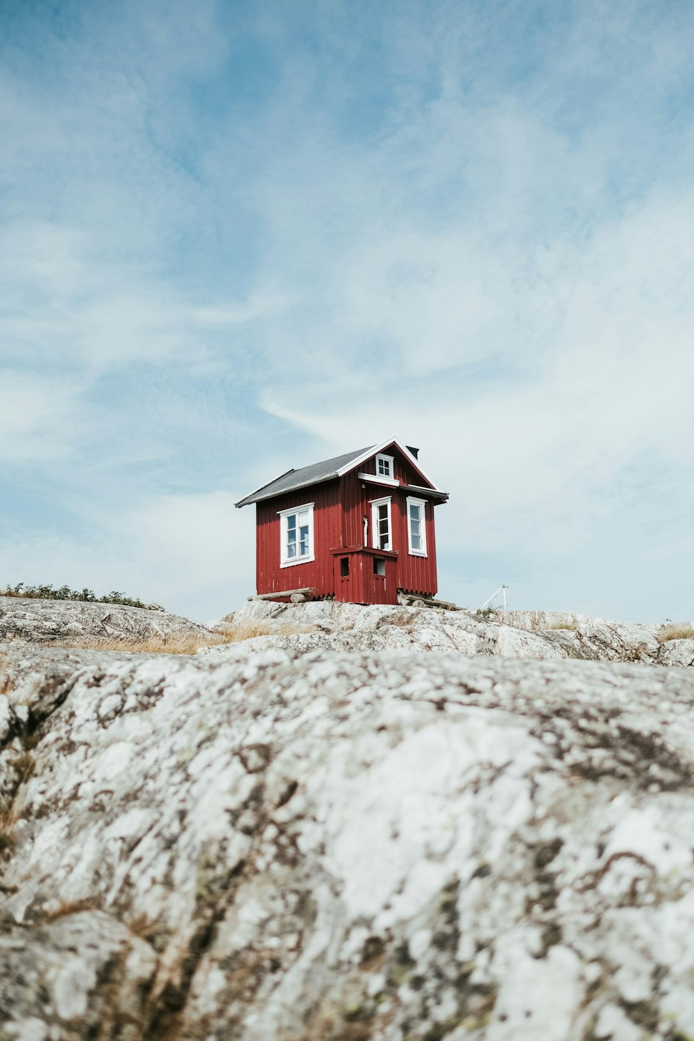
[(233, 502), (393, 434), (442, 596), (691, 618), (693, 30), (0, 2), (0, 583), (219, 616)]

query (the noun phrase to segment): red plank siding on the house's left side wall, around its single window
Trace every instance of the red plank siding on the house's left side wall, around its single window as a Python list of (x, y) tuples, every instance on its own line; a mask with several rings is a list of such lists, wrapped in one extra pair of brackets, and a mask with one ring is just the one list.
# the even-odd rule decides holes
[[(337, 481), (325, 481), (309, 488), (300, 488), (286, 496), (256, 504), (256, 587), (258, 592), (281, 592), (314, 586), (319, 596), (335, 591), (333, 555), (338, 545), (339, 510)], [(315, 560), (306, 564), (280, 566), (279, 510), (315, 503), (313, 508), (313, 550)]]

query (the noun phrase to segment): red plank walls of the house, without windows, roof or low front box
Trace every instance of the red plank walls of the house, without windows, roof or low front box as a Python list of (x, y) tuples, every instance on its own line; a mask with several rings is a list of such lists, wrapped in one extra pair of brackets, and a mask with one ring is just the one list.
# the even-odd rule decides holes
[[(386, 450), (394, 456), (395, 478), (406, 484), (423, 486), (423, 478), (396, 449)], [(309, 488), (292, 491), (277, 499), (256, 505), (256, 581), (259, 593), (280, 592), (283, 589), (299, 589), (314, 586), (318, 596), (339, 595), (336, 589), (335, 557), (330, 552), (336, 547), (360, 547), (364, 541), (364, 516), (368, 517), (368, 542), (371, 542), (370, 500), (390, 496), (392, 520), (392, 548), (397, 551), (397, 559), (388, 561), (389, 591), (385, 601), (376, 586), (366, 593), (360, 588), (360, 595), (374, 596), (374, 603), (390, 602), (393, 582), (397, 588), (408, 592), (433, 595), (437, 590), (436, 579), (436, 535), (434, 531), (434, 504), (427, 501), (425, 507), (427, 526), (427, 557), (411, 556), (408, 551), (407, 496), (405, 488), (387, 485), (365, 484), (357, 473), (376, 474), (376, 460), (370, 459), (363, 466), (340, 479), (325, 481)], [(411, 492), (415, 498), (426, 498)], [(313, 512), (313, 538), (315, 560), (305, 564), (280, 566), (280, 518), (278, 510), (315, 503)], [(356, 564), (356, 561), (355, 561)], [(361, 565), (360, 565), (361, 566)], [(356, 587), (355, 587), (356, 588)], [(366, 587), (364, 587), (366, 588)], [(370, 586), (369, 586), (370, 588)]]

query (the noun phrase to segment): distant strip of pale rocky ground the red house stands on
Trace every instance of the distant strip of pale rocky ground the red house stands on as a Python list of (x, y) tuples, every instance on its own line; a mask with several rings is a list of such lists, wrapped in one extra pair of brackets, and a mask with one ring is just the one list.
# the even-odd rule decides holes
[[(229, 661), (275, 649), (290, 653), (407, 651), (420, 655), (439, 651), (694, 664), (694, 637), (664, 638), (666, 628), (542, 611), (499, 611), (481, 616), (464, 610), (361, 607), (331, 601), (250, 601), (219, 623), (203, 626), (165, 611), (0, 596), (0, 642), (139, 651), (166, 651), (177, 644), (184, 653), (198, 650)], [(682, 628), (686, 632), (689, 627)]]

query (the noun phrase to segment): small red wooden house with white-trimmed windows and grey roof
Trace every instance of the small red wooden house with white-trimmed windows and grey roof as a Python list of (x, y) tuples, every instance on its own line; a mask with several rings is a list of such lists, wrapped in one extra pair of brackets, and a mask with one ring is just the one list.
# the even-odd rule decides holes
[(433, 596), (434, 507), (447, 498), (396, 438), (289, 469), (236, 503), (256, 504), (257, 591), (352, 604)]

